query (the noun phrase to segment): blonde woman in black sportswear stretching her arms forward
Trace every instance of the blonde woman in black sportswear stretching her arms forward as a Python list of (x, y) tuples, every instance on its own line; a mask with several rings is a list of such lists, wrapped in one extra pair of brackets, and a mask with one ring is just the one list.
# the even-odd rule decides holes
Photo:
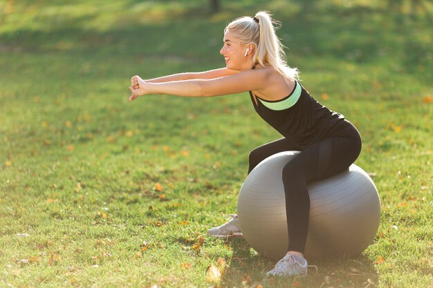
[[(255, 148), (248, 173), (266, 157), (282, 151), (301, 151), (282, 171), (288, 227), (287, 254), (267, 276), (306, 275), (304, 247), (310, 198), (307, 183), (347, 169), (358, 157), (361, 139), (339, 113), (319, 104), (300, 85), (298, 71), (284, 60), (281, 42), (268, 12), (241, 17), (224, 30), (221, 55), (225, 68), (142, 80), (131, 79), (129, 100), (147, 94), (212, 97), (249, 91), (255, 111), (284, 137)], [(210, 229), (213, 236), (241, 233), (237, 216)]]

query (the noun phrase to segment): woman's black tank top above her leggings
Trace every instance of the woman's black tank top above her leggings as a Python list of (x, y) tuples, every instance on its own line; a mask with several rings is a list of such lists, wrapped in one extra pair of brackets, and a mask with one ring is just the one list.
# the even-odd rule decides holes
[[(299, 82), (297, 85), (300, 85)], [(251, 91), (250, 97), (255, 111), (261, 118), (302, 148), (325, 138), (338, 136), (342, 129), (351, 125), (343, 115), (329, 110), (311, 97), (302, 85), (301, 88), (301, 95), (297, 102), (284, 110), (272, 110), (259, 99), (256, 104)]]

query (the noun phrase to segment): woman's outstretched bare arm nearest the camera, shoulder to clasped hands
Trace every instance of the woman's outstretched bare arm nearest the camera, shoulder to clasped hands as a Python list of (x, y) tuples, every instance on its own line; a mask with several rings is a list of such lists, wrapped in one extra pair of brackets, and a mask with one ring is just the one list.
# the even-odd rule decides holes
[(147, 94), (170, 94), (184, 97), (212, 97), (241, 93), (248, 90), (260, 90), (268, 82), (267, 69), (248, 70), (216, 79), (194, 79), (149, 83), (134, 76), (129, 87), (132, 101)]

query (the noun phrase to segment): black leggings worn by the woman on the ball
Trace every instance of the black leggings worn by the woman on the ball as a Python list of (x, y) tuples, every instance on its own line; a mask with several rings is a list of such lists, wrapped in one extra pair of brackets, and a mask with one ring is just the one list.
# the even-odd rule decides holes
[(310, 215), (307, 183), (348, 169), (360, 154), (361, 137), (355, 126), (348, 123), (337, 135), (306, 148), (282, 138), (251, 151), (248, 173), (266, 157), (282, 151), (302, 151), (284, 166), (282, 177), (286, 194), (288, 251), (304, 253)]

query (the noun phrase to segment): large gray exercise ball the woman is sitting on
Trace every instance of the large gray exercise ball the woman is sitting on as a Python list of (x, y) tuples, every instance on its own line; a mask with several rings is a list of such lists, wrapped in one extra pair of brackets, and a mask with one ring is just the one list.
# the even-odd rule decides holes
[[(239, 226), (248, 244), (261, 255), (281, 259), (288, 233), (282, 169), (299, 151), (263, 160), (246, 177), (237, 202)], [(374, 240), (380, 200), (373, 181), (360, 167), (308, 184), (310, 220), (307, 259), (357, 256)]]

